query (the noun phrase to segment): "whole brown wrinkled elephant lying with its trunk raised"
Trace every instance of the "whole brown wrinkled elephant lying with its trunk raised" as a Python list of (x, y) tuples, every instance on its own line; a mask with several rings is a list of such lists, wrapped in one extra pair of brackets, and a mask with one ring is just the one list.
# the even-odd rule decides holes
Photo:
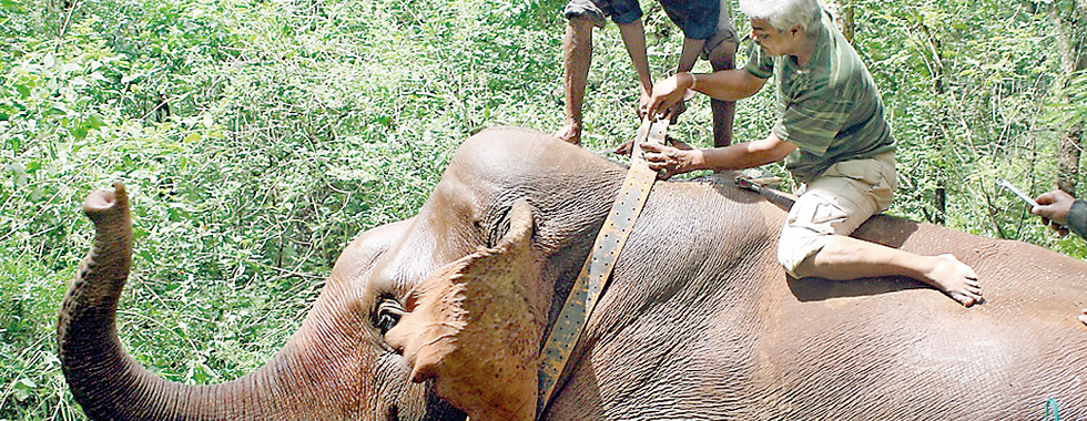
[[(64, 374), (103, 420), (537, 418), (541, 343), (626, 171), (532, 130), (468, 137), (417, 215), (346, 246), (271, 361), (212, 386), (119, 342), (133, 239), (114, 184), (83, 204)], [(786, 276), (784, 215), (729, 174), (658, 182), (539, 419), (1087, 419), (1087, 264), (886, 215), (853, 234), (971, 265), (986, 301), (964, 308), (908, 278)]]

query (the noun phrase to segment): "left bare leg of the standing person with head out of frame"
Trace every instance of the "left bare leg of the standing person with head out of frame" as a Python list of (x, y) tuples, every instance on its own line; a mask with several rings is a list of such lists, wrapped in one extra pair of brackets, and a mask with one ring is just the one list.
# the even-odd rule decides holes
[(562, 93), (566, 99), (566, 123), (555, 136), (575, 145), (581, 144), (581, 104), (592, 61), (592, 20), (573, 16), (567, 21), (562, 39)]

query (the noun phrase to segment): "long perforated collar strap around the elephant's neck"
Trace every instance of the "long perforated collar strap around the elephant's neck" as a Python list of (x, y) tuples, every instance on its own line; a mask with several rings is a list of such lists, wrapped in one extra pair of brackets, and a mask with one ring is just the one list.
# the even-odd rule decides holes
[(603, 292), (611, 270), (616, 267), (619, 253), (630, 236), (631, 228), (641, 213), (649, 191), (657, 181), (657, 172), (649, 168), (644, 153), (639, 147), (642, 141), (664, 143), (664, 134), (668, 131), (668, 120), (652, 121), (646, 119), (638, 129), (638, 136), (631, 146), (630, 170), (627, 178), (619, 188), (611, 213), (605, 219), (597, 240), (592, 245), (592, 253), (585, 260), (581, 273), (573, 281), (570, 295), (566, 299), (566, 305), (559, 312), (559, 318), (551, 328), (547, 340), (544, 342), (540, 367), (540, 393), (537, 409), (537, 418), (542, 415), (544, 410), (550, 403), (552, 393), (559, 384), (559, 380), (565, 380), (563, 368), (573, 353), (573, 349), (585, 330), (589, 316), (597, 305), (597, 299)]

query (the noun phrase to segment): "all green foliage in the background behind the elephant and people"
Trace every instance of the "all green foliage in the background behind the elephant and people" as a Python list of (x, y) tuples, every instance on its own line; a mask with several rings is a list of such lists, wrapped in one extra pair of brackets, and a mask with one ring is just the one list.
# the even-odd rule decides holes
[[(994, 185), (1052, 189), (1056, 141), (1087, 115), (1045, 4), (852, 3), (900, 145), (892, 213), (1087, 255)], [(121, 179), (133, 199), (126, 349), (171, 380), (237, 378), (297, 328), (347, 242), (415, 214), (466, 136), (558, 129), (563, 4), (0, 0), (0, 419), (82, 417), (54, 326), (90, 191)], [(643, 9), (662, 78), (682, 35)], [(595, 31), (586, 147), (632, 136), (637, 95), (617, 29)], [(741, 101), (735, 138), (774, 113), (772, 89)], [(671, 133), (705, 146), (710, 121), (699, 97)]]

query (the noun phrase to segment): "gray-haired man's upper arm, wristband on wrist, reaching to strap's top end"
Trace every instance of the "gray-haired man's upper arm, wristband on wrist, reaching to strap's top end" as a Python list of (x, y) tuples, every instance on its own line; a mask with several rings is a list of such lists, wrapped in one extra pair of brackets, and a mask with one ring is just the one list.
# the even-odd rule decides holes
[(649, 112), (663, 115), (672, 105), (683, 100), (687, 90), (710, 95), (714, 100), (738, 101), (754, 95), (765, 79), (755, 78), (746, 70), (731, 69), (709, 74), (677, 73), (653, 86)]

